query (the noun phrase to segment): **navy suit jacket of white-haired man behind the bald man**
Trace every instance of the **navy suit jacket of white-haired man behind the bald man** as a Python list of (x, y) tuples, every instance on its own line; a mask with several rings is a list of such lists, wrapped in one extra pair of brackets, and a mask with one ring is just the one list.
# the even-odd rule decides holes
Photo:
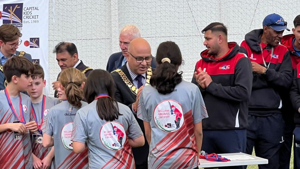
[[(118, 52), (118, 53), (114, 53), (114, 54), (110, 55), (110, 58), (108, 58), (108, 61), (107, 61), (106, 70), (108, 72), (112, 72), (116, 69), (120, 69), (122, 67), (123, 59), (124, 59), (124, 56), (123, 56), (122, 52)], [(151, 67), (152, 68), (156, 67), (155, 58), (153, 58), (153, 60), (151, 62)]]

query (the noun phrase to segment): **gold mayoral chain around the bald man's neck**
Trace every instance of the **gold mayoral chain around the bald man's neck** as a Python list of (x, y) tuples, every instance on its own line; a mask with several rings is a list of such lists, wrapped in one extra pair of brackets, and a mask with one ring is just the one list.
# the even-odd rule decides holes
[[(128, 88), (130, 89), (130, 91), (132, 93), (134, 93), (135, 95), (137, 95), (137, 92), (139, 91), (139, 89), (137, 89), (133, 83), (128, 79), (128, 77), (125, 75), (125, 73), (121, 70), (121, 69), (116, 69), (115, 71), (113, 72), (118, 72), (119, 75), (121, 76), (122, 80), (125, 82), (125, 84), (128, 86)], [(149, 67), (147, 69), (147, 72), (146, 72), (146, 84), (145, 86), (149, 85), (150, 84), (150, 78), (152, 76), (152, 68)]]

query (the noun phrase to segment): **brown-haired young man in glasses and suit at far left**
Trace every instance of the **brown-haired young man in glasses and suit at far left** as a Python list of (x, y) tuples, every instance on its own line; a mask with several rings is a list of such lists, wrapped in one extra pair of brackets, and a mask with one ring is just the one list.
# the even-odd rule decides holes
[[(19, 45), (22, 44), (22, 33), (20, 30), (11, 24), (4, 24), (0, 26), (0, 90), (3, 90), (6, 87), (5, 77), (3, 74), (3, 65), (4, 63), (14, 57), (19, 56), (20, 52), (17, 51)], [(29, 61), (32, 62), (30, 54), (22, 54)]]

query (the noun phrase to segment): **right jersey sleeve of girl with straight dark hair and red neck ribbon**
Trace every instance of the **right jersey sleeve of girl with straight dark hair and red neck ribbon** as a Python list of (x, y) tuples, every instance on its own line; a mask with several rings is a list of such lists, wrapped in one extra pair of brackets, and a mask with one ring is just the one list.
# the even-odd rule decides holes
[(143, 132), (131, 112), (129, 113), (129, 127), (127, 136), (131, 139), (137, 139), (138, 137), (143, 136)]

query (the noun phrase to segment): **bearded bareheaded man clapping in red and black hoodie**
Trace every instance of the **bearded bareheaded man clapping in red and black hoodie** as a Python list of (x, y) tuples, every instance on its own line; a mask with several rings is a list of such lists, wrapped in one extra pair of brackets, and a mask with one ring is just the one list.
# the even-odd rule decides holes
[(203, 32), (207, 50), (201, 53), (192, 80), (199, 86), (208, 113), (202, 120), (202, 150), (208, 154), (245, 152), (251, 63), (235, 42), (227, 42), (223, 23), (211, 23)]

